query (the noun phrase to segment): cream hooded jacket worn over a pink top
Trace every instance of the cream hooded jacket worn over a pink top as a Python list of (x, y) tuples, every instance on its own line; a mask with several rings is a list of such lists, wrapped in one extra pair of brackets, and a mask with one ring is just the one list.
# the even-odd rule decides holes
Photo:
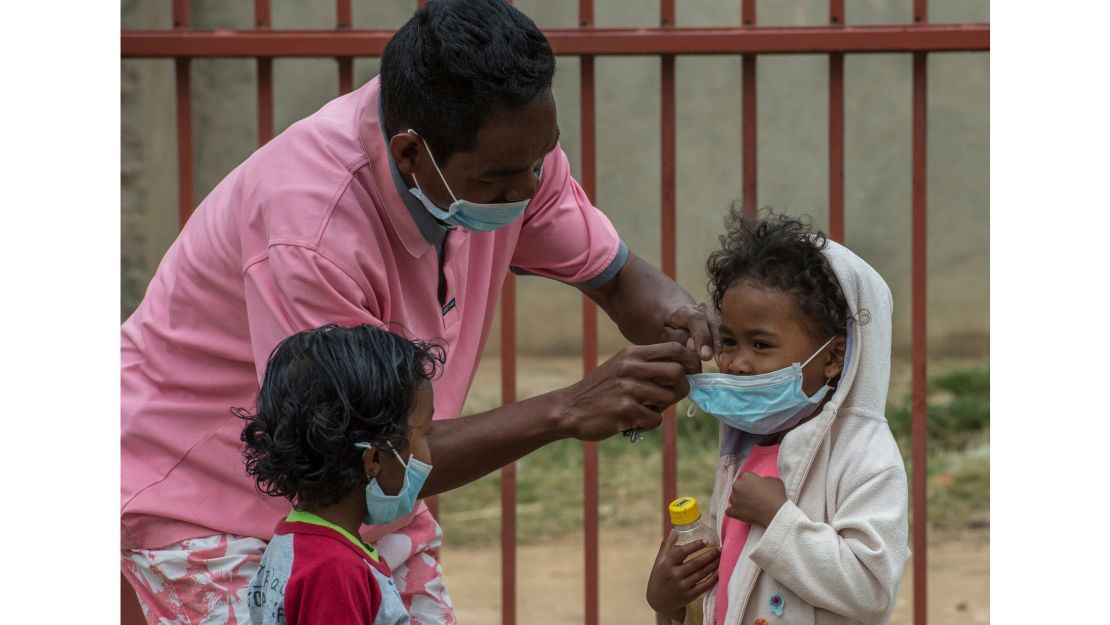
[[(728, 583), (726, 625), (888, 623), (909, 558), (906, 470), (884, 416), (890, 289), (842, 245), (829, 242), (825, 258), (852, 315), (845, 370), (821, 412), (783, 438), (787, 502), (766, 528), (751, 526)], [(737, 470), (758, 438), (722, 426), (709, 506), (718, 535)], [(716, 623), (716, 592), (704, 598), (706, 625)], [(776, 593), (783, 602), (773, 609)]]

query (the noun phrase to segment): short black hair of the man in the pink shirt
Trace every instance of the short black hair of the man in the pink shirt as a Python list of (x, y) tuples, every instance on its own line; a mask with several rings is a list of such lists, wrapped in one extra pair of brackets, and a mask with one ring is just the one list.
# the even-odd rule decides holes
[(474, 148), (492, 109), (532, 102), (554, 74), (547, 39), (505, 0), (432, 0), (382, 53), (385, 129), (414, 129), (442, 165)]

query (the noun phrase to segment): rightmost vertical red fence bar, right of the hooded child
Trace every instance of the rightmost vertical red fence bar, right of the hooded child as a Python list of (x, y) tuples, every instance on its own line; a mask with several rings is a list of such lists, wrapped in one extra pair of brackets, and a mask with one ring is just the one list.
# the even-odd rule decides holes
[[(927, 21), (927, 0), (914, 0), (914, 23)], [(928, 516), (926, 515), (926, 154), (928, 123), (927, 104), (927, 56), (914, 53), (914, 209), (912, 236), (912, 324), (914, 324), (914, 400), (911, 412), (912, 465), (914, 465), (914, 625), (926, 625), (927, 618), (927, 542)]]

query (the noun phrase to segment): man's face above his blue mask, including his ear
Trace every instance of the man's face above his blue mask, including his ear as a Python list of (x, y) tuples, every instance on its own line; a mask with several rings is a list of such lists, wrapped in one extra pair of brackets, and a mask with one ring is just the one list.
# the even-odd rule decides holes
[[(472, 150), (455, 152), (446, 162), (434, 152), (432, 155), (456, 199), (501, 204), (535, 195), (539, 167), (557, 142), (555, 99), (551, 90), (544, 90), (519, 109), (494, 109), (478, 130)], [(415, 177), (432, 202), (444, 210), (451, 206), (451, 193), (436, 173), (422, 139), (398, 134), (391, 140), (391, 150), (397, 169), (408, 174), (406, 178)]]

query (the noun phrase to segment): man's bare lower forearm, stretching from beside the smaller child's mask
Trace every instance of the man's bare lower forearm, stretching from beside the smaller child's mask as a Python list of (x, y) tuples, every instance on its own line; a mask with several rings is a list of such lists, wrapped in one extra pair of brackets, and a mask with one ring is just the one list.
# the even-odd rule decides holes
[(422, 497), (483, 477), (537, 448), (567, 437), (561, 432), (557, 391), (484, 413), (436, 421), (428, 437), (432, 466)]

